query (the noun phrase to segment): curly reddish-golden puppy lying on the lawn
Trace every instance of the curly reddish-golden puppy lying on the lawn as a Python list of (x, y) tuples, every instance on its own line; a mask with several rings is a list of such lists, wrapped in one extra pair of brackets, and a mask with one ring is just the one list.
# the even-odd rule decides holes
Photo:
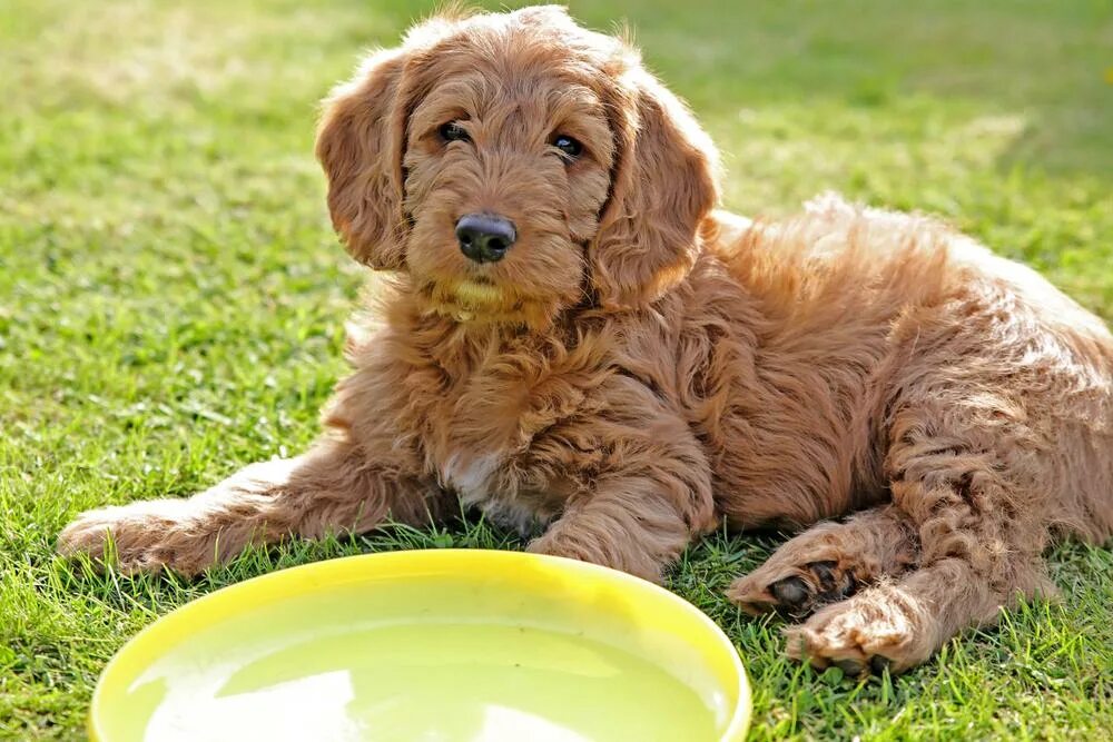
[(712, 211), (691, 115), (560, 9), (422, 23), (334, 91), (317, 156), (347, 249), (393, 271), (321, 441), (85, 513), (63, 553), (190, 574), (463, 502), (657, 580), (721, 523), (806, 528), (730, 597), (857, 673), (1051, 591), (1052, 538), (1113, 532), (1100, 320), (922, 217)]

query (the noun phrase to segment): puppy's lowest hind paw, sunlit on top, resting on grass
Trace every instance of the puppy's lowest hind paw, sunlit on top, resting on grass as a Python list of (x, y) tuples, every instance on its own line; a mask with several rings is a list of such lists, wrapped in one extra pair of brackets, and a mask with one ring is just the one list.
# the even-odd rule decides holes
[(935, 620), (894, 585), (829, 605), (785, 633), (789, 656), (854, 677), (920, 664), (935, 651), (938, 634)]

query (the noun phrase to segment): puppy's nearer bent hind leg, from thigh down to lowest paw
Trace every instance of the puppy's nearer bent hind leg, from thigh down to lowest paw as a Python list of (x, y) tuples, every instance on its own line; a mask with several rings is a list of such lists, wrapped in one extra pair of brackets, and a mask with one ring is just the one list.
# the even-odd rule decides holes
[(1021, 597), (1054, 593), (1041, 553), (1052, 444), (987, 393), (896, 414), (886, 461), (893, 502), (917, 528), (918, 570), (790, 629), (789, 652), (851, 674), (924, 662)]

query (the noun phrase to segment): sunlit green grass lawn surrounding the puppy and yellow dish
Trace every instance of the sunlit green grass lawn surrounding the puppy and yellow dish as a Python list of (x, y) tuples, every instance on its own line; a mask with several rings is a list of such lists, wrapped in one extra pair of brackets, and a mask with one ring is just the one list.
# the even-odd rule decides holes
[[(637, 29), (721, 146), (728, 206), (784, 214), (835, 188), (933, 211), (1113, 318), (1113, 7), (912, 4), (572, 9)], [(393, 531), (250, 554), (190, 584), (52, 555), (78, 511), (185, 496), (313, 438), (363, 277), (327, 225), (316, 101), (424, 11), (0, 0), (0, 738), (79, 738), (111, 654), (221, 585), (341, 554), (519, 545), (483, 524)], [(1113, 735), (1109, 551), (1060, 547), (1062, 602), (900, 679), (853, 682), (787, 662), (776, 622), (723, 600), (777, 543), (710, 538), (670, 581), (741, 651), (752, 739)]]

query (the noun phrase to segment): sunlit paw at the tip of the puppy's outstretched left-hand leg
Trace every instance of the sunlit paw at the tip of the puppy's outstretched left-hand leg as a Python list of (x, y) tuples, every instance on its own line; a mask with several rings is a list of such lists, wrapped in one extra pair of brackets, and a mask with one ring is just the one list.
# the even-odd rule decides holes
[(85, 554), (93, 564), (112, 563), (125, 574), (165, 567), (195, 574), (207, 564), (180, 548), (186, 503), (157, 499), (86, 511), (59, 534), (58, 553)]

